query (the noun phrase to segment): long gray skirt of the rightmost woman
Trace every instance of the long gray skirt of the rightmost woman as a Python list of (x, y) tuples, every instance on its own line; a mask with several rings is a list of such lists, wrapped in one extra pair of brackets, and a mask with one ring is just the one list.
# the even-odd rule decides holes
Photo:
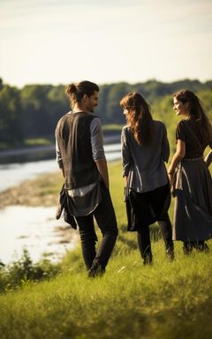
[(212, 237), (212, 178), (202, 158), (184, 159), (176, 172), (173, 240)]

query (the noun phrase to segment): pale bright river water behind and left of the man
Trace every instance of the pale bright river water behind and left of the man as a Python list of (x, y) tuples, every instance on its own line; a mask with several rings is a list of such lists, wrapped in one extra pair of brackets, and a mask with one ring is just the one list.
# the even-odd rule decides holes
[[(104, 147), (108, 162), (120, 159), (120, 144)], [(58, 170), (56, 160), (10, 163), (0, 165), (0, 191), (19, 185), (26, 179)], [(1, 202), (0, 202), (1, 206)], [(43, 255), (51, 261), (60, 260), (78, 240), (78, 232), (67, 223), (55, 219), (56, 207), (9, 206), (0, 208), (0, 261), (9, 264), (19, 260), (23, 249), (31, 259)]]

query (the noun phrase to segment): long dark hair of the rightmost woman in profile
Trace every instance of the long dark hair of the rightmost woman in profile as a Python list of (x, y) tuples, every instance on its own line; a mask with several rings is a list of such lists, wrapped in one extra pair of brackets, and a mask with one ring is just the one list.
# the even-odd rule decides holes
[(189, 115), (200, 123), (202, 142), (206, 145), (212, 142), (212, 126), (202, 107), (201, 100), (196, 94), (188, 89), (180, 90), (173, 96), (183, 104), (188, 103)]

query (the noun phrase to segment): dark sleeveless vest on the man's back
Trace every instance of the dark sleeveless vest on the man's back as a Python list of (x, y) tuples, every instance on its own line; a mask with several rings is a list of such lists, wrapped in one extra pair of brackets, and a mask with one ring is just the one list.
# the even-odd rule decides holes
[(66, 189), (98, 181), (90, 139), (90, 124), (94, 118), (94, 115), (84, 112), (68, 113), (57, 123), (57, 144), (62, 156)]

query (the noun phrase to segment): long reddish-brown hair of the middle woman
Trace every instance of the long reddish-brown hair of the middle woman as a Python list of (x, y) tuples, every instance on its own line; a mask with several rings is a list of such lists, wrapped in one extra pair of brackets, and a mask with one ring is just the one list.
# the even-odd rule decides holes
[(126, 94), (120, 101), (122, 109), (127, 109), (126, 122), (134, 139), (141, 145), (152, 145), (155, 141), (155, 125), (150, 106), (141, 94)]

